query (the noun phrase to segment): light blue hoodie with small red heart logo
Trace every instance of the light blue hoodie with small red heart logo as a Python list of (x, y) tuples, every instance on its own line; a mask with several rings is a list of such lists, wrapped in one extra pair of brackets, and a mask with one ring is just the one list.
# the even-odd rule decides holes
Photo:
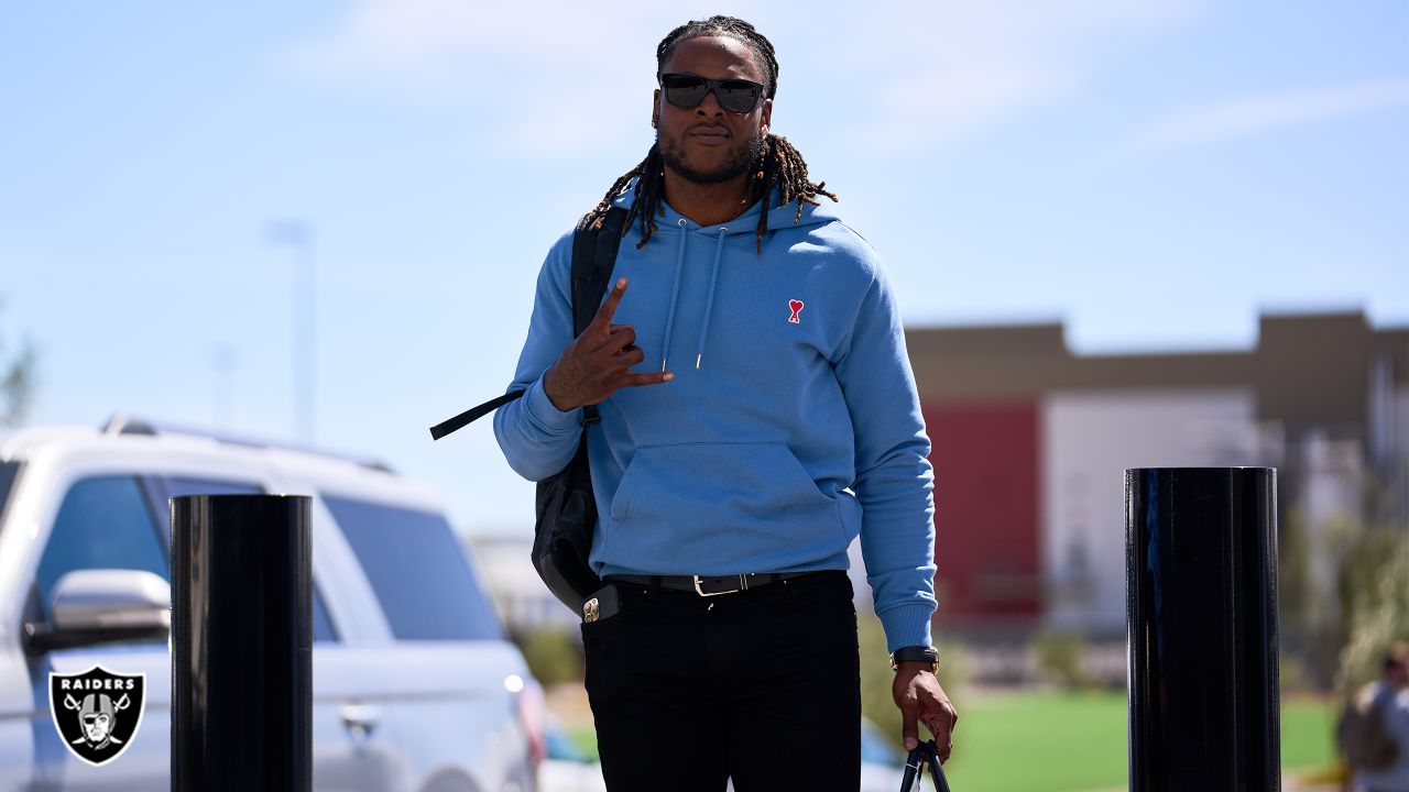
[[(617, 199), (630, 206), (631, 193)], [(876, 252), (830, 206), (759, 206), (700, 227), (669, 206), (643, 248), (621, 241), (614, 323), (675, 379), (617, 390), (588, 430), (599, 575), (845, 569), (861, 550), (893, 651), (930, 644), (934, 502), (920, 402)], [(572, 341), (572, 233), (548, 252), (510, 390), (495, 414), (530, 481), (576, 451), (582, 410), (542, 373)]]

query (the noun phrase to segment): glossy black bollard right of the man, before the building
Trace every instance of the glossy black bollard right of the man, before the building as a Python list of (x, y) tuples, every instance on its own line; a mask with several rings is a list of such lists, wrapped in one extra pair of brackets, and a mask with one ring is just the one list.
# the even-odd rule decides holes
[(1277, 471), (1126, 471), (1131, 792), (1277, 792)]

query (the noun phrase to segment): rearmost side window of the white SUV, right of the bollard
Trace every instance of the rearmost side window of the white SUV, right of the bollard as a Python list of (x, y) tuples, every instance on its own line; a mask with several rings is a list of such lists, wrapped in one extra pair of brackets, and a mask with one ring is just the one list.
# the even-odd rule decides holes
[(323, 502), (362, 562), (397, 638), (502, 637), (489, 598), (442, 516), (331, 495)]

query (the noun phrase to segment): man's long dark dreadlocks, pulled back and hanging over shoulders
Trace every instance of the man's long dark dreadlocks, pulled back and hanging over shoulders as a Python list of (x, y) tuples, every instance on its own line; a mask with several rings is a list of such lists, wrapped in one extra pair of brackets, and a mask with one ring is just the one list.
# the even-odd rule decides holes
[[(665, 62), (671, 59), (675, 48), (682, 41), (703, 35), (727, 35), (748, 45), (758, 56), (759, 65), (764, 69), (764, 97), (772, 99), (778, 96), (778, 58), (774, 55), (772, 42), (764, 34), (754, 30), (754, 25), (735, 17), (714, 16), (704, 21), (692, 20), (672, 30), (655, 48), (657, 79), (659, 79)], [(661, 145), (657, 142), (645, 152), (645, 159), (612, 183), (612, 189), (602, 196), (602, 202), (597, 203), (596, 209), (588, 213), (588, 223), (592, 223), (593, 228), (602, 228), (602, 221), (606, 218), (607, 210), (612, 209), (612, 202), (623, 194), (631, 185), (631, 180), (635, 179), (635, 197), (631, 200), (631, 209), (627, 210), (621, 233), (624, 235), (631, 228), (633, 221), (638, 223), (641, 227), (641, 241), (635, 247), (645, 245), (651, 234), (658, 230), (655, 217), (665, 214), (665, 206), (661, 203), (661, 194), (665, 190), (664, 171), (665, 161), (661, 156)], [(805, 203), (820, 206), (817, 196), (827, 196), (831, 200), (837, 200), (836, 193), (828, 193), (823, 189), (826, 185), (826, 182), (814, 185), (807, 180), (807, 162), (788, 142), (788, 138), (771, 132), (764, 137), (758, 152), (758, 168), (748, 180), (743, 202), (744, 206), (762, 202), (758, 213), (758, 238), (755, 241), (759, 254), (764, 251), (764, 234), (768, 231), (768, 210), (774, 190), (779, 192), (781, 200), (778, 206), (788, 206), (792, 202), (797, 202), (797, 214), (793, 217), (793, 223), (796, 223), (802, 220)]]

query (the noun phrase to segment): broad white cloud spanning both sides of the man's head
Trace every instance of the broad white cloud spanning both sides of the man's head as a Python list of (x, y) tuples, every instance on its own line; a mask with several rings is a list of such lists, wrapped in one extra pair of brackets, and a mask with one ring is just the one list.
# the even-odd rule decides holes
[[(1078, 90), (1103, 56), (1188, 24), (1205, 0), (838, 0), (726, 8), (782, 61), (779, 111), (850, 145), (967, 138)], [(588, 151), (648, 118), (654, 44), (683, 3), (365, 0), (289, 52), (296, 72), (413, 101), (471, 104), (513, 151)], [(796, 79), (807, 75), (807, 80)], [(624, 86), (624, 87), (623, 87)], [(797, 90), (797, 93), (790, 93)], [(786, 104), (807, 94), (806, 104)], [(848, 113), (834, 97), (847, 96)], [(814, 127), (816, 128), (816, 127)]]

